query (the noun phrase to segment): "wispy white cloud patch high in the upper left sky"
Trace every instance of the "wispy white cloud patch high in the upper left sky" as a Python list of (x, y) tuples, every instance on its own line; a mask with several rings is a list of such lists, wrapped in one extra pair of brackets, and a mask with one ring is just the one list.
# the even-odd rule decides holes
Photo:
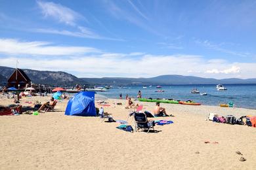
[(37, 1), (38, 6), (45, 17), (51, 17), (58, 22), (63, 22), (67, 25), (75, 25), (77, 18), (82, 18), (80, 14), (72, 9), (64, 7), (53, 2)]

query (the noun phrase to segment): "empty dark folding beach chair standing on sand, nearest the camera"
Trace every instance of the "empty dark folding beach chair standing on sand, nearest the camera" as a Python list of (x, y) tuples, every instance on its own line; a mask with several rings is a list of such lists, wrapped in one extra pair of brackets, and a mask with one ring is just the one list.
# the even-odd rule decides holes
[(154, 120), (148, 121), (148, 118), (146, 117), (146, 114), (144, 114), (144, 112), (134, 112), (133, 116), (135, 119), (135, 131), (139, 131), (139, 129), (147, 129), (149, 132), (151, 128), (154, 130)]

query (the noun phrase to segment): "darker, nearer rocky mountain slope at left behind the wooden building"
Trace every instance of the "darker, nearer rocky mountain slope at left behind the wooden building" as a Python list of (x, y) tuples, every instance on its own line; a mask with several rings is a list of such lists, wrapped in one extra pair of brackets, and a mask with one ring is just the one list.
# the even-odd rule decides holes
[[(84, 80), (77, 78), (74, 75), (65, 73), (62, 71), (37, 71), (31, 69), (22, 69), (30, 80), (36, 84), (50, 84), (50, 85), (66, 85), (71, 86), (74, 84), (86, 84)], [(0, 78), (5, 77), (7, 79), (13, 73), (14, 68), (0, 66)], [(2, 79), (2, 78), (1, 78)], [(0, 79), (0, 80), (1, 80)], [(4, 78), (3, 78), (4, 79)]]

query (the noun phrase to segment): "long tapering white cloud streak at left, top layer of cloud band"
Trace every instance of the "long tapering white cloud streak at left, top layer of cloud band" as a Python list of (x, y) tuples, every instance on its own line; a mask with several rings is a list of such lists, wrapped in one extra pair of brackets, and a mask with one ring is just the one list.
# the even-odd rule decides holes
[(69, 56), (100, 52), (96, 48), (83, 46), (53, 46), (50, 42), (22, 42), (16, 39), (0, 39), (0, 53), (47, 56)]

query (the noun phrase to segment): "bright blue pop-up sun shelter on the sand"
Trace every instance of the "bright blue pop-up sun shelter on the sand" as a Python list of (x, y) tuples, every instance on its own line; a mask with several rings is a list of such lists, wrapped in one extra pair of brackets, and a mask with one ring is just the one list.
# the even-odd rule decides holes
[(79, 92), (74, 95), (68, 101), (65, 114), (71, 116), (96, 116), (94, 94), (94, 92)]

